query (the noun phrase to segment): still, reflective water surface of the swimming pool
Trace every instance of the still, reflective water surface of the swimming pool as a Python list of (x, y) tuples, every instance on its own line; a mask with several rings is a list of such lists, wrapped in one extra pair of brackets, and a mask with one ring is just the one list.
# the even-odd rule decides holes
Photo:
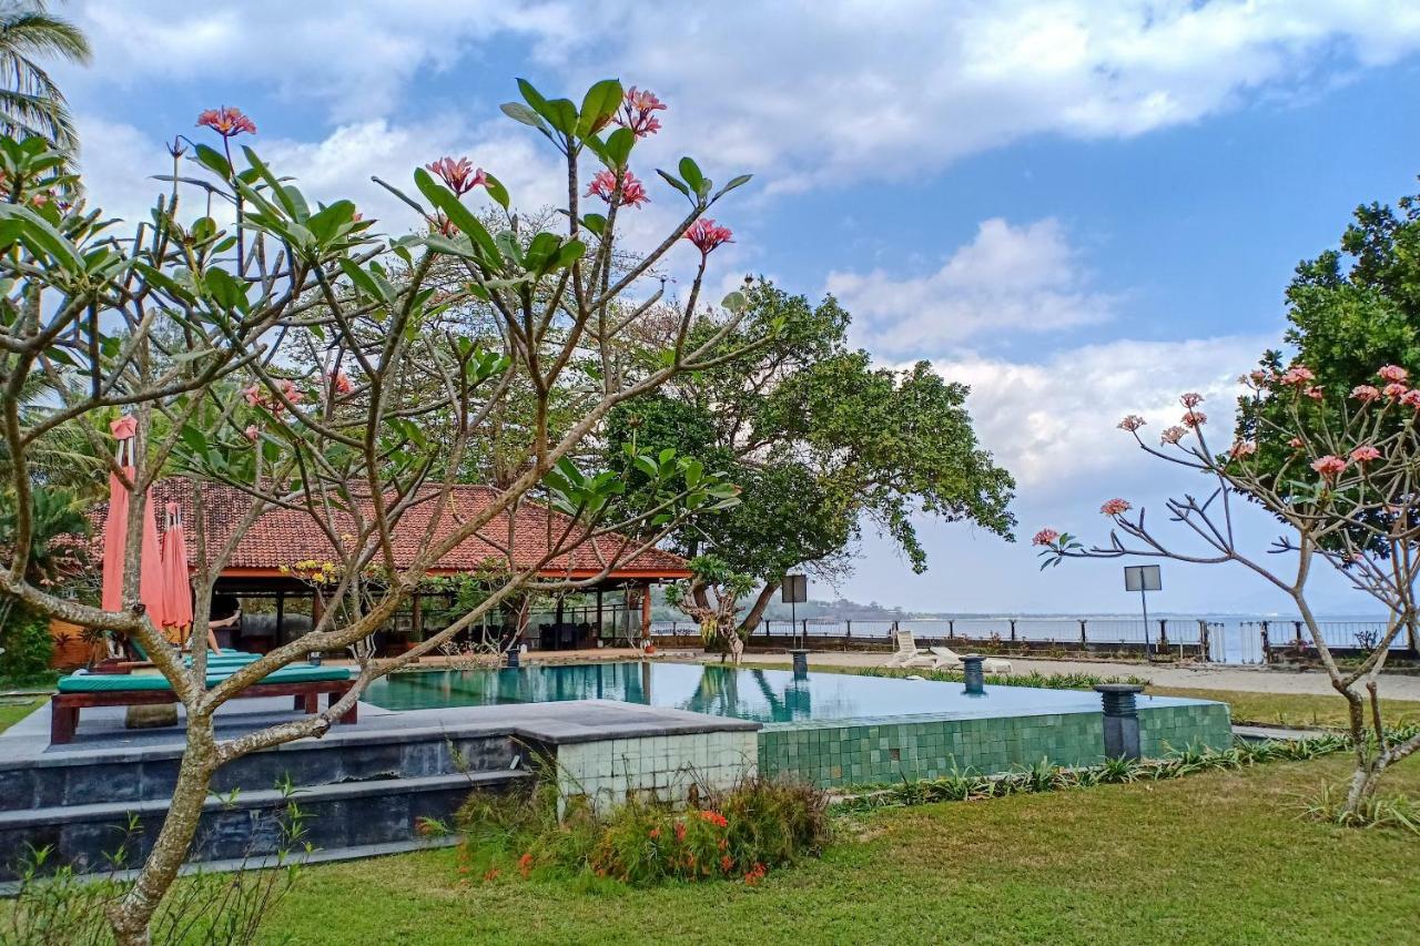
[[(967, 696), (961, 683), (851, 673), (797, 678), (790, 670), (639, 660), (398, 673), (376, 680), (364, 699), (392, 710), (605, 699), (760, 723), (929, 713), (976, 719), (1100, 710), (1099, 695), (1091, 690), (987, 686), (984, 695)], [(1197, 700), (1140, 697), (1140, 707), (1193, 703)]]

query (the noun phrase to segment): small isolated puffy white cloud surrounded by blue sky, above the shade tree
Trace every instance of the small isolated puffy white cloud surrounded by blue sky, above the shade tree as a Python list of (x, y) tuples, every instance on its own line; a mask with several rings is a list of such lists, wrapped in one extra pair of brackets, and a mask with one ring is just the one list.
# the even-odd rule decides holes
[(937, 271), (895, 278), (829, 273), (828, 291), (853, 312), (856, 339), (878, 355), (919, 355), (985, 332), (1102, 322), (1116, 300), (1089, 288), (1058, 220), (1011, 226), (993, 217)]

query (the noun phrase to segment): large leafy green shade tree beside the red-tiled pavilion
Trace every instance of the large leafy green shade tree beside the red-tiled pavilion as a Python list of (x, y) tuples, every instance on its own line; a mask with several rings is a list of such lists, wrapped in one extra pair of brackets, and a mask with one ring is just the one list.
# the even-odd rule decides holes
[[(611, 453), (632, 442), (690, 452), (744, 487), (736, 509), (673, 534), (682, 553), (713, 554), (726, 574), (761, 582), (741, 634), (758, 625), (785, 572), (841, 574), (865, 524), (917, 572), (927, 555), (914, 516), (1011, 538), (1014, 482), (977, 442), (966, 385), (929, 362), (875, 366), (848, 344), (849, 314), (831, 297), (814, 305), (758, 280), (746, 298), (743, 321), (720, 344), (744, 348), (757, 335), (768, 344), (619, 406), (606, 436)], [(707, 317), (690, 338), (721, 331)]]

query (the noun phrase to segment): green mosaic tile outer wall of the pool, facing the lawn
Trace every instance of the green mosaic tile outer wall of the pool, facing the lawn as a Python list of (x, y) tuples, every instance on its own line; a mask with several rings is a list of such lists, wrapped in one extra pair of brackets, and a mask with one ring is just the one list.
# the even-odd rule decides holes
[[(1228, 707), (1223, 703), (1140, 707), (1139, 730), (1145, 756), (1162, 756), (1197, 743), (1224, 749), (1233, 741)], [(937, 778), (953, 768), (1010, 771), (1042, 757), (1056, 766), (1102, 761), (1103, 716), (897, 716), (771, 724), (760, 730), (760, 774), (824, 788)]]

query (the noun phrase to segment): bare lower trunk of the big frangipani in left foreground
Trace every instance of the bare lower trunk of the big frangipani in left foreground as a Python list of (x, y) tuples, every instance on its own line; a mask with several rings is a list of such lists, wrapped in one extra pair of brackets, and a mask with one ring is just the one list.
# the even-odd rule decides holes
[(217, 744), (212, 717), (189, 714), (187, 750), (178, 770), (172, 803), (153, 849), (143, 861), (138, 881), (112, 906), (108, 922), (119, 946), (148, 946), (151, 923), (158, 905), (168, 895), (178, 871), (187, 859), (193, 835), (202, 821), (202, 805), (207, 800), (212, 774), (217, 770)]

